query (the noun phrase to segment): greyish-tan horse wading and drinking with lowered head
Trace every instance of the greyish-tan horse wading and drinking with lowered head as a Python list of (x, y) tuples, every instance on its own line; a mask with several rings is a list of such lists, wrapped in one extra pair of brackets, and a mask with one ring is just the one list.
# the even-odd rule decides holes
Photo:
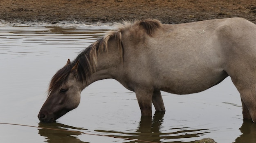
[(53, 122), (80, 103), (91, 83), (112, 78), (135, 92), (142, 116), (165, 112), (160, 91), (204, 91), (230, 76), (240, 93), (243, 118), (256, 122), (256, 25), (243, 18), (162, 24), (124, 21), (81, 51), (49, 83), (38, 114)]

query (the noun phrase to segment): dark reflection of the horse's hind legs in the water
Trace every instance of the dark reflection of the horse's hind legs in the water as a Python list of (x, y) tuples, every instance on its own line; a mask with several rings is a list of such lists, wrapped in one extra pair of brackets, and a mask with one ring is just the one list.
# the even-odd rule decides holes
[(256, 143), (256, 124), (251, 119), (244, 119), (240, 131), (243, 134), (234, 143)]

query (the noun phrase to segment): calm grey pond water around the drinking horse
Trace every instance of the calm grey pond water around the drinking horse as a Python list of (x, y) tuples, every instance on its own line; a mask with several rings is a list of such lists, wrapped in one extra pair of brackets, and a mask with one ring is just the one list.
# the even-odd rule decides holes
[(218, 143), (256, 142), (256, 124), (243, 121), (230, 78), (201, 93), (162, 92), (166, 113), (152, 118), (141, 118), (135, 93), (115, 80), (100, 80), (82, 91), (78, 108), (56, 123), (40, 123), (37, 114), (55, 72), (113, 28), (0, 26), (0, 122), (44, 127), (0, 124), (1, 143), (190, 143), (208, 137)]

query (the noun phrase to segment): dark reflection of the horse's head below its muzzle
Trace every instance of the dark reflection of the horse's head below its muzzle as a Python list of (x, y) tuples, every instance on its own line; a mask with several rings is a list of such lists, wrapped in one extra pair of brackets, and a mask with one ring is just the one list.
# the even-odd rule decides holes
[[(82, 142), (77, 137), (81, 133), (79, 132), (67, 132), (63, 130), (85, 130), (82, 128), (76, 128), (72, 126), (67, 126), (64, 124), (59, 123), (51, 123), (51, 124), (45, 124), (45, 123), (39, 123), (38, 127), (43, 128), (52, 128), (52, 129), (59, 129), (59, 130), (50, 130), (50, 129), (38, 129), (38, 134), (40, 134), (43, 137), (47, 137), (47, 143), (88, 143), (88, 142)], [(61, 130), (60, 130), (61, 129)]]

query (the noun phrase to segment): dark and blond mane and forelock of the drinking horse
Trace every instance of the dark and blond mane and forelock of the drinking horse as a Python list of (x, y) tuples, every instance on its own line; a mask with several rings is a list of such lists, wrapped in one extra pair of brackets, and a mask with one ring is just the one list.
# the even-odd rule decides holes
[(70, 64), (65, 65), (62, 69), (56, 72), (56, 74), (52, 77), (52, 80), (50, 81), (48, 95), (52, 91), (60, 88), (63, 83), (67, 81), (67, 77), (77, 61), (79, 61), (79, 64), (76, 78), (86, 84), (87, 77), (90, 76), (90, 74), (92, 74), (92, 72), (94, 72), (97, 68), (98, 55), (108, 50), (108, 41), (112, 38), (115, 38), (117, 40), (119, 55), (121, 60), (123, 61), (124, 49), (121, 43), (121, 33), (125, 30), (129, 30), (138, 26), (141, 26), (145, 30), (146, 34), (153, 37), (154, 32), (158, 28), (162, 27), (162, 24), (158, 20), (141, 20), (135, 22), (124, 21), (122, 24), (117, 24), (117, 30), (110, 30), (105, 35), (105, 37), (92, 43), (88, 48), (83, 50), (74, 61), (72, 61)]

